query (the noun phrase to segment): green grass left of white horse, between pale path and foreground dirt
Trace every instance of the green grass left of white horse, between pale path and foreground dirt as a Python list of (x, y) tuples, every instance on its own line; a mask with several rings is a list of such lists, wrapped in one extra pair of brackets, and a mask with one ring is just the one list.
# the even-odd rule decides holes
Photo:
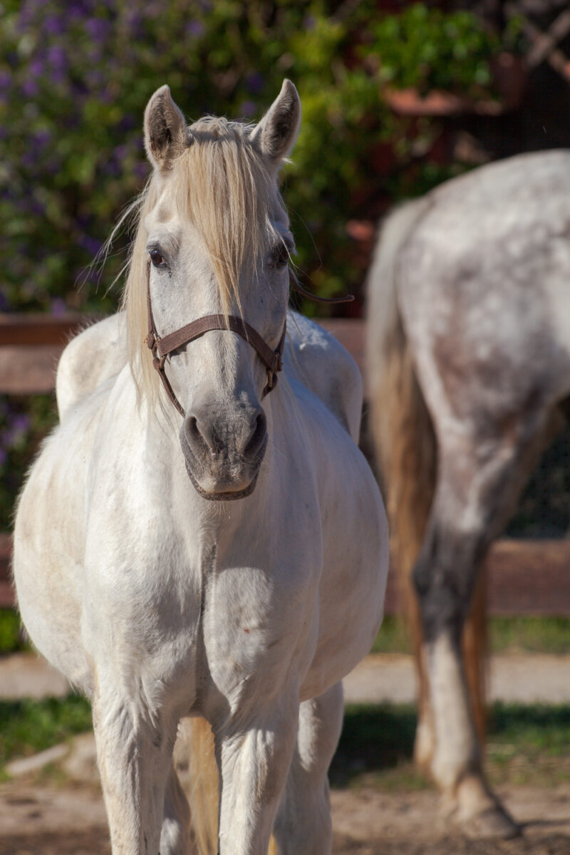
[(0, 768), (90, 729), (91, 705), (77, 695), (0, 701)]

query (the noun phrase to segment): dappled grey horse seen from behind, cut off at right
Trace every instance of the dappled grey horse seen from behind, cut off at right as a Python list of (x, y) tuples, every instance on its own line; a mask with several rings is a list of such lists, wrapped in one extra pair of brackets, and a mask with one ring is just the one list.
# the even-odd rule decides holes
[(478, 577), (568, 412), (570, 152), (492, 163), (397, 209), (367, 289), (373, 430), (420, 628), (416, 758), (465, 828), (513, 834), (482, 768)]

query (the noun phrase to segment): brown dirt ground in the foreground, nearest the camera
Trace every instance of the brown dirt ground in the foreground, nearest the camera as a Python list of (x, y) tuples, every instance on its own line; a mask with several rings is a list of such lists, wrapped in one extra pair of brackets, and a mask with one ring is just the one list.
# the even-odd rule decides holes
[[(512, 787), (501, 792), (524, 823), (509, 841), (466, 840), (438, 818), (432, 792), (332, 792), (334, 855), (567, 855), (570, 787)], [(92, 783), (0, 786), (0, 855), (107, 855), (101, 793)]]

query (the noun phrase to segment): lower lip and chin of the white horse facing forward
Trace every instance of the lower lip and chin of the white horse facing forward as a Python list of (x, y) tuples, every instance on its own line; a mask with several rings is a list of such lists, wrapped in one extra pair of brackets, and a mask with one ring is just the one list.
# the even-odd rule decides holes
[[(267, 448), (267, 436), (256, 454), (255, 459), (242, 463), (238, 473), (230, 466), (208, 467), (197, 462), (188, 445), (184, 444), (184, 462), (186, 472), (196, 492), (212, 502), (232, 502), (237, 498), (246, 498), (256, 489), (257, 476)], [(230, 469), (230, 471), (226, 471)]]

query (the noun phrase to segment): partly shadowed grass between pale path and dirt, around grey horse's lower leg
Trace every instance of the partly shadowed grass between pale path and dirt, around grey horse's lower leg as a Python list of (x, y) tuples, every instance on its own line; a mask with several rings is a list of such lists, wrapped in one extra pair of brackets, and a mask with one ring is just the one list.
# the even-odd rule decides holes
[[(413, 763), (412, 705), (350, 705), (332, 760), (332, 787), (410, 792), (431, 787)], [(491, 783), (552, 787), (570, 781), (570, 706), (495, 704), (488, 728)]]

